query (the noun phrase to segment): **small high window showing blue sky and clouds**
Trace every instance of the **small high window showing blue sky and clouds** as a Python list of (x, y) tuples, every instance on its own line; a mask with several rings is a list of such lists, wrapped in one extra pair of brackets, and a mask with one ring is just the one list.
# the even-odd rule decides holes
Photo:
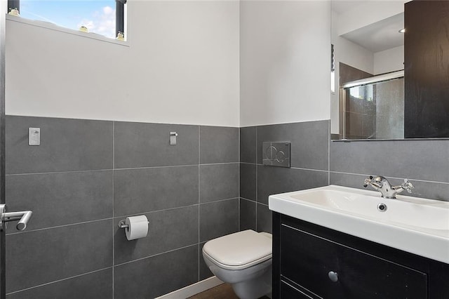
[(8, 0), (8, 11), (17, 8), (21, 18), (51, 22), (60, 27), (115, 39), (124, 32), (126, 0)]

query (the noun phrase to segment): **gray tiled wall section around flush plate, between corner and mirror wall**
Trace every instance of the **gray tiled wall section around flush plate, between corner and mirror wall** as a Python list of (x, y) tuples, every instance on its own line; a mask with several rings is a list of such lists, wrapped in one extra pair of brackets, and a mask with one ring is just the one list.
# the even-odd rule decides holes
[[(269, 194), (328, 185), (329, 121), (240, 128), (241, 230), (272, 232)], [(291, 142), (291, 168), (262, 165), (262, 142)]]

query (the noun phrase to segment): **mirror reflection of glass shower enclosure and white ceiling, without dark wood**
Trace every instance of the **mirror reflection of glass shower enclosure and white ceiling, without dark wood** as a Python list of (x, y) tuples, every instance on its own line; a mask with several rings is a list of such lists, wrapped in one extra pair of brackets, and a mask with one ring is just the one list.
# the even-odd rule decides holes
[[(403, 79), (358, 84), (403, 70), (406, 1), (333, 1), (335, 93), (331, 96), (333, 139), (397, 139), (403, 135)], [(357, 85), (357, 84), (356, 84)], [(339, 91), (340, 92), (337, 92)], [(391, 130), (389, 130), (390, 126)]]

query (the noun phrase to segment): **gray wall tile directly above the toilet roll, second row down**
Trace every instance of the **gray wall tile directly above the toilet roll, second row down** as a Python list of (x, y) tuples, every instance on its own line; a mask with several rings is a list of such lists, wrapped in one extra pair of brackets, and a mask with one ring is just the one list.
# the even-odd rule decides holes
[(114, 214), (198, 204), (198, 166), (114, 171)]

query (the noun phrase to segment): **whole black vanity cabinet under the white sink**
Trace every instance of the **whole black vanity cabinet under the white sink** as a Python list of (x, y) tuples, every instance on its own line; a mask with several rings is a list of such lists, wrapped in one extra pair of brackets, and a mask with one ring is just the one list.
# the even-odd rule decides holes
[(449, 265), (273, 213), (273, 298), (449, 299)]

